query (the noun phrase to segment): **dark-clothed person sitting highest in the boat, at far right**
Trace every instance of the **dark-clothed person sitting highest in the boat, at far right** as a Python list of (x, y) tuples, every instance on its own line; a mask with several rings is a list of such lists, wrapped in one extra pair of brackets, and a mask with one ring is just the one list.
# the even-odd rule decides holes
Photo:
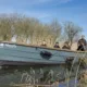
[(87, 46), (87, 42), (86, 42), (85, 36), (82, 36), (82, 39), (79, 39), (77, 42), (77, 50), (85, 51), (86, 46)]

